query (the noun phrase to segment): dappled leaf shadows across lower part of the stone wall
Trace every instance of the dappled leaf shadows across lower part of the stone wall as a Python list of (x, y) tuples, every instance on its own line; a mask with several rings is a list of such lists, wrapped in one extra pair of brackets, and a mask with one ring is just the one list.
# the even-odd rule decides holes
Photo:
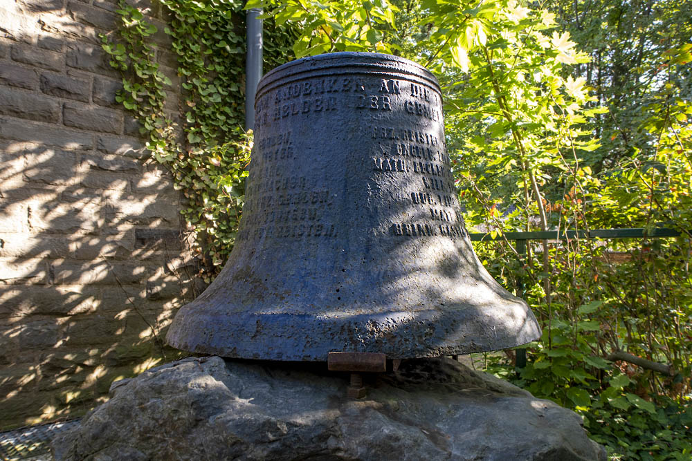
[(114, 379), (172, 359), (165, 328), (194, 297), (194, 261), (167, 180), (129, 191), (147, 181), (138, 160), (0, 150), (4, 426), (82, 413)]

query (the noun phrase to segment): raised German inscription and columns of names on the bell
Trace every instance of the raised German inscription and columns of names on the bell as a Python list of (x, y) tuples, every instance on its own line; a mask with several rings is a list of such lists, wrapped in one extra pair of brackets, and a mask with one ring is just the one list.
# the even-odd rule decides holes
[[(246, 186), (243, 225), (237, 240), (265, 236), (307, 242), (308, 239), (335, 238), (340, 234), (340, 227), (330, 222), (332, 213), (336, 212), (331, 200), (336, 195), (329, 194), (326, 189), (313, 189), (319, 187), (316, 185), (320, 181), (312, 173), (306, 175), (307, 178), (284, 173), (291, 169), (283, 162), (296, 158), (300, 149), (309, 145), (308, 141), (300, 140), (298, 144), (295, 133), (280, 132), (280, 126), (290, 124), (275, 125), (276, 129), (269, 130), (264, 124), (286, 117), (306, 117), (308, 122), (313, 122), (328, 115), (329, 111), (346, 107), (357, 107), (372, 114), (363, 120), (372, 120), (372, 124), (365, 122), (366, 125), (361, 125), (363, 131), (358, 134), (370, 143), (363, 146), (367, 148), (363, 154), (372, 160), (363, 160), (372, 162), (364, 167), (372, 171), (373, 186), (379, 188), (376, 190), (388, 190), (392, 208), (397, 207), (392, 213), (409, 207), (408, 215), (401, 214), (401, 221), (390, 225), (390, 235), (397, 238), (464, 236), (462, 217), (454, 211), (458, 201), (441, 126), (427, 122), (441, 121), (436, 91), (406, 80), (401, 81), (401, 86), (397, 79), (379, 76), (361, 79), (355, 75), (323, 75), (308, 80), (284, 84), (257, 100), (257, 150), (251, 174), (262, 181), (254, 182), (255, 186), (248, 182)], [(389, 117), (377, 116), (381, 111), (401, 111), (399, 116), (412, 123), (408, 124), (409, 128), (403, 127), (405, 120), (390, 126), (390, 123), (395, 124), (389, 122)], [(360, 114), (366, 115), (363, 112)], [(406, 187), (390, 190), (390, 183), (383, 182), (383, 177), (395, 175), (404, 175)]]

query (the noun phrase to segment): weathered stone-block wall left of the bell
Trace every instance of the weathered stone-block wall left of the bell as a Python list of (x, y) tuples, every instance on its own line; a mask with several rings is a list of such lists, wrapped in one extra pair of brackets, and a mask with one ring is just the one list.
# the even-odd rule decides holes
[[(161, 8), (132, 1), (159, 33)], [(0, 428), (78, 415), (162, 359), (192, 296), (179, 195), (115, 101), (117, 0), (0, 1)]]

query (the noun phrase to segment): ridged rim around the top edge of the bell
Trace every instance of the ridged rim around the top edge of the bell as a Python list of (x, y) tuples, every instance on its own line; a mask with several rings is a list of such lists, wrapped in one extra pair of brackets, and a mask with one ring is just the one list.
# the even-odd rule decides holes
[[(381, 70), (389, 71), (391, 73), (403, 73), (407, 75), (413, 75), (421, 79), (427, 80), (428, 84), (430, 84), (432, 88), (435, 88), (435, 91), (437, 91), (437, 93), (439, 93), (441, 97), (439, 81), (437, 80), (437, 77), (435, 77), (435, 74), (433, 74), (432, 72), (430, 72), (430, 70), (428, 70), (424, 66), (421, 66), (421, 64), (418, 64), (415, 61), (411, 61), (410, 59), (406, 59), (405, 57), (388, 55), (386, 53), (368, 53), (365, 51), (337, 51), (334, 53), (323, 53), (322, 55), (301, 57), (299, 59), (294, 59), (293, 61), (286, 62), (281, 66), (273, 68), (268, 73), (264, 74), (262, 79), (260, 79), (259, 84), (257, 84), (257, 92), (255, 93), (255, 104), (257, 104), (257, 100), (266, 91), (266, 87), (270, 86), (278, 79), (282, 79), (284, 77), (294, 77), (296, 75), (299, 75), (300, 73), (320, 70), (320, 68), (316, 67), (318, 64), (327, 64), (327, 62), (334, 59), (348, 59), (349, 61), (344, 62), (341, 66), (334, 66), (334, 64), (331, 64), (329, 66), (330, 70), (334, 70), (338, 67), (348, 68), (349, 66), (355, 67), (358, 65), (367, 65), (371, 66), (372, 68), (381, 68)], [(381, 64), (378, 65), (375, 61), (388, 61), (392, 63), (401, 64), (402, 66), (406, 66), (408, 70), (406, 68), (394, 68), (390, 66), (384, 66)], [(419, 73), (412, 72), (412, 70), (417, 70)]]

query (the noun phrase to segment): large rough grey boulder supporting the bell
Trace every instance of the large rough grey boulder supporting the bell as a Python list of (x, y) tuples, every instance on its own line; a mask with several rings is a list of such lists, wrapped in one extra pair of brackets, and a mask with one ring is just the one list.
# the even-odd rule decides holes
[(326, 364), (190, 358), (111, 386), (57, 460), (605, 460), (578, 415), (450, 359), (345, 397)]

